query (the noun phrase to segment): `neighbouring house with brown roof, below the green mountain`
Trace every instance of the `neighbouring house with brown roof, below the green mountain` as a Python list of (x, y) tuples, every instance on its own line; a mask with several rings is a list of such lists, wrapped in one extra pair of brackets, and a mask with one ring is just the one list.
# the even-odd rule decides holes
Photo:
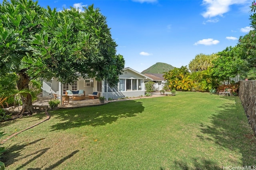
[[(153, 82), (155, 82), (154, 89), (156, 91), (160, 91), (164, 88), (164, 85), (166, 83), (166, 80), (164, 80), (164, 77), (163, 77), (164, 74), (145, 73), (144, 75), (151, 78)], [(149, 79), (146, 80), (146, 82), (148, 81)]]

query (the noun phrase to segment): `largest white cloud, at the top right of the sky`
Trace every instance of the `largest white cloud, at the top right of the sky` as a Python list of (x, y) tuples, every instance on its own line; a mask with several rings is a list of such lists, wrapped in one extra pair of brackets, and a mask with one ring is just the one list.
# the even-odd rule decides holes
[(247, 4), (249, 0), (203, 0), (206, 6), (206, 12), (202, 14), (204, 18), (222, 16), (230, 10), (230, 6), (234, 4)]

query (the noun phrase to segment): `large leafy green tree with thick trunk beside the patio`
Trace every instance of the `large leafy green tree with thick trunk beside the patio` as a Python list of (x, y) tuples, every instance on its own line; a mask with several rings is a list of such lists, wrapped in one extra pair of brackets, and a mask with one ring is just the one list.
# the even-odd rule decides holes
[[(16, 72), (19, 90), (28, 89), (31, 78), (72, 83), (78, 72), (114, 86), (124, 68), (116, 46), (106, 17), (93, 6), (57, 12), (32, 0), (0, 5), (0, 71)], [(31, 95), (22, 100), (21, 114), (33, 112)]]

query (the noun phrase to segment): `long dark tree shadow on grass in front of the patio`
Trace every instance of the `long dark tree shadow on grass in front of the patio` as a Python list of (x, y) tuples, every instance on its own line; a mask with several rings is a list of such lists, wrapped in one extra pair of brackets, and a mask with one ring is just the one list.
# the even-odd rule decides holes
[(120, 118), (134, 117), (144, 111), (142, 102), (127, 100), (111, 102), (102, 106), (59, 109), (50, 113), (59, 123), (52, 125), (52, 131), (81, 126), (99, 126), (113, 123)]

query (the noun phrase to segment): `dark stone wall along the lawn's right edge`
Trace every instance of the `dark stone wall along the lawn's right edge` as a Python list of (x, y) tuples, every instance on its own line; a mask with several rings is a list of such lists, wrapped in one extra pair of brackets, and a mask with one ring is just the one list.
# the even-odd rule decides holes
[(256, 80), (240, 81), (239, 98), (256, 136)]

